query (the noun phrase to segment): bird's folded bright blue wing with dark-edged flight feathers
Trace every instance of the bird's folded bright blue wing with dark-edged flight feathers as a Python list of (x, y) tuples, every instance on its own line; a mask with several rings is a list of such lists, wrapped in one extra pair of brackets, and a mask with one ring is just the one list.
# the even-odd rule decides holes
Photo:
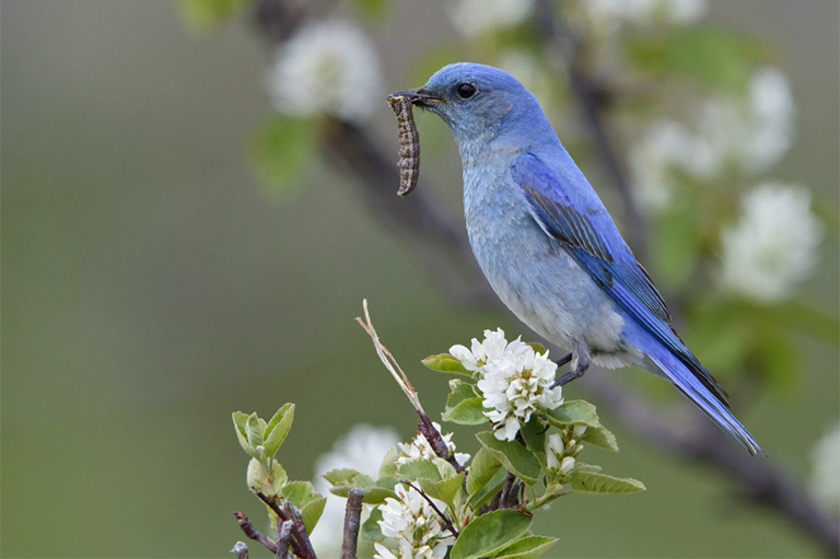
[[(511, 176), (522, 187), (537, 224), (557, 240), (593, 280), (630, 316), (650, 331), (722, 403), (725, 391), (670, 326), (670, 314), (651, 278), (635, 260), (612, 219), (596, 197), (573, 198), (572, 180), (586, 180), (575, 174), (561, 176), (532, 153), (520, 155)], [(591, 188), (588, 184), (586, 188)]]

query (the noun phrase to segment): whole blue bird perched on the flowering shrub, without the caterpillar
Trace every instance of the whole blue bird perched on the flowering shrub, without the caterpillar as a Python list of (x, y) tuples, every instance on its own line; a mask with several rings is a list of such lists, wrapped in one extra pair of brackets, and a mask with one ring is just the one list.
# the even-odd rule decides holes
[(570, 371), (556, 385), (590, 364), (637, 365), (670, 382), (750, 454), (763, 454), (677, 335), (650, 276), (522, 83), (491, 66), (457, 62), (393, 96), (452, 131), (479, 267), (520, 321), (571, 350), (558, 361)]

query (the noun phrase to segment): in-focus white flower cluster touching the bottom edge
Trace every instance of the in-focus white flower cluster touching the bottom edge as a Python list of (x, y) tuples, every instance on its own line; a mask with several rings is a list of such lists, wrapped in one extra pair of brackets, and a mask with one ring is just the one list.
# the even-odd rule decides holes
[[(444, 522), (429, 502), (413, 487), (397, 484), (397, 499), (387, 498), (378, 506), (382, 511), (380, 527), (385, 537), (396, 538), (399, 555), (382, 544), (374, 544), (377, 559), (442, 559), (448, 546), (455, 543), (452, 534), (445, 535)], [(430, 498), (431, 499), (431, 498)], [(431, 499), (445, 514), (446, 503)]]

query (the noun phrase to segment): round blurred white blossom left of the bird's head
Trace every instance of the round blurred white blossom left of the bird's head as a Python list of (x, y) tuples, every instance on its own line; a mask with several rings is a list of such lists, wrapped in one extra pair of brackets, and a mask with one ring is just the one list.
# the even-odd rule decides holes
[(382, 75), (373, 43), (339, 20), (299, 28), (278, 50), (268, 73), (275, 107), (293, 117), (369, 117), (381, 103)]

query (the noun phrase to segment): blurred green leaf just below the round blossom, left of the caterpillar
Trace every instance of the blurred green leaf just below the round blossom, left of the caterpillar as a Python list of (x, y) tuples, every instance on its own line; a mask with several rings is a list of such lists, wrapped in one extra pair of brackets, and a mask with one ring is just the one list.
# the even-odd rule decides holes
[(256, 131), (250, 154), (266, 185), (276, 194), (288, 194), (310, 164), (315, 147), (312, 120), (278, 117)]

